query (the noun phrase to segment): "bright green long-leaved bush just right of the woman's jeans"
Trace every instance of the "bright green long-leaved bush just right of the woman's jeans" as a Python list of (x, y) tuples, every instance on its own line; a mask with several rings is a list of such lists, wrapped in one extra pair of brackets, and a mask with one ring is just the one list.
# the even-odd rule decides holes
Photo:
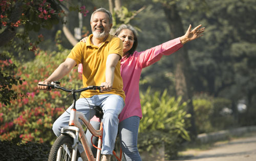
[(177, 147), (183, 139), (189, 140), (185, 120), (190, 117), (186, 113), (186, 103), (181, 104), (181, 98), (175, 99), (157, 91), (140, 94), (143, 118), (139, 126), (138, 147), (140, 151), (154, 150), (164, 143), (166, 158), (177, 154)]

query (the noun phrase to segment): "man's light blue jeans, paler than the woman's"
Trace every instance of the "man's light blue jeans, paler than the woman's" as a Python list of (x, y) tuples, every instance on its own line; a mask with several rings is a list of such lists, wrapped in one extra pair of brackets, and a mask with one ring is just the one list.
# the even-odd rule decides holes
[[(82, 112), (84, 116), (90, 120), (95, 115), (95, 110), (92, 108), (99, 106), (102, 108), (103, 115), (103, 142), (101, 154), (112, 154), (114, 149), (115, 139), (118, 131), (118, 114), (122, 111), (124, 101), (121, 96), (112, 94), (95, 95), (91, 98), (80, 98), (76, 101), (76, 109)], [(67, 111), (54, 122), (53, 131), (59, 136), (62, 127), (69, 125), (70, 106)], [(83, 152), (81, 144), (78, 145), (79, 152)]]

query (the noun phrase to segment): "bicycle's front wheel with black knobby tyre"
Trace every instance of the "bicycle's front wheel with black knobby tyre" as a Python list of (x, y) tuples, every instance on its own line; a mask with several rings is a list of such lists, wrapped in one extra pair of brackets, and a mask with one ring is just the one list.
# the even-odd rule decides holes
[[(60, 135), (50, 150), (48, 161), (71, 160), (73, 139), (67, 135)], [(78, 156), (76, 155), (76, 160)]]

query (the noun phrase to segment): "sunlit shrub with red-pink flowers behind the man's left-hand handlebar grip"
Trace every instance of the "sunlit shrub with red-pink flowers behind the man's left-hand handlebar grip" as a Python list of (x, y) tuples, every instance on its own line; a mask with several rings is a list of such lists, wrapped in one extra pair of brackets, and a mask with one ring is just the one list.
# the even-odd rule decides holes
[[(64, 111), (63, 100), (67, 93), (57, 89), (41, 91), (37, 89), (37, 83), (49, 77), (69, 52), (40, 51), (34, 61), (20, 65), (17, 76), (25, 81), (13, 86), (13, 89), (17, 93), (25, 93), (26, 97), (19, 95), (10, 105), (0, 104), (0, 140), (19, 137), (25, 141), (53, 143), (55, 135), (52, 124)], [(81, 80), (81, 75), (74, 68), (68, 76), (59, 81), (63, 86), (79, 88), (82, 86)], [(67, 107), (70, 105), (70, 102), (66, 103)]]

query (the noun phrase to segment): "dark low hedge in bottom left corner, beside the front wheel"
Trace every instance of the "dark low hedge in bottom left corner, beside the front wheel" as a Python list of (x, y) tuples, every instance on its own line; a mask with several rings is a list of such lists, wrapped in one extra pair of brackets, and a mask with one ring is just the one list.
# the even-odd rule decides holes
[(20, 140), (0, 141), (1, 160), (47, 160), (51, 146)]

